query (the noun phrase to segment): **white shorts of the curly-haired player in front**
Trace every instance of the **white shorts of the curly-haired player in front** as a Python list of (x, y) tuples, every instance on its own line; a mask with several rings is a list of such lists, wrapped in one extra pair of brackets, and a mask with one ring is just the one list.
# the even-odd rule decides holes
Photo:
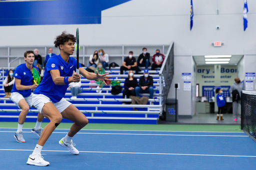
[[(33, 94), (32, 95), (32, 102), (34, 107), (42, 113), (42, 108), (44, 106), (44, 103), (51, 102), (50, 98), (47, 96), (44, 96), (43, 94)], [(63, 112), (69, 105), (71, 105), (70, 102), (66, 101), (66, 99), (62, 98), (59, 102), (53, 103), (51, 102), (57, 110), (61, 113)]]

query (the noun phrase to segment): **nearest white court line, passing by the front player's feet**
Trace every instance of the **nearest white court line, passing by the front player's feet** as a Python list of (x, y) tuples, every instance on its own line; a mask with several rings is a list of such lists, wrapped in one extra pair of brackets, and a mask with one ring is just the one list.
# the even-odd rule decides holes
[[(12, 150), (12, 149), (0, 149), (0, 151), (33, 151), (33, 150)], [(69, 152), (69, 151), (53, 151), (42, 150), (42, 152)], [(210, 157), (252, 157), (246, 155), (206, 155), (206, 154), (169, 154), (169, 153), (137, 153), (137, 152), (100, 152), (100, 151), (79, 151), (80, 153), (101, 153), (101, 154), (144, 154), (144, 155), (181, 155), (181, 156), (210, 156)]]

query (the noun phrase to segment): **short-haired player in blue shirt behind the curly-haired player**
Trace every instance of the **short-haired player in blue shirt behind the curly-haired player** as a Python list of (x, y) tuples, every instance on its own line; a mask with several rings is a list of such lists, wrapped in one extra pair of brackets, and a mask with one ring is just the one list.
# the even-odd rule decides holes
[[(36, 68), (33, 65), (34, 62), (34, 52), (26, 51), (24, 53), (24, 64), (20, 64), (17, 66), (14, 72), (15, 82), (12, 86), (10, 99), (15, 103), (15, 105), (21, 109), (21, 112), (18, 116), (18, 129), (15, 133), (14, 137), (16, 141), (19, 143), (24, 143), (25, 140), (23, 138), (22, 126), (25, 122), (26, 115), (29, 111), (29, 107), (32, 107), (32, 94), (31, 89), (34, 90), (36, 88), (36, 84), (33, 84), (33, 77), (31, 70), (32, 68)], [(35, 127), (32, 129), (32, 133), (36, 134), (40, 137), (41, 135), (41, 122), (43, 120), (43, 116), (38, 113), (37, 122)]]

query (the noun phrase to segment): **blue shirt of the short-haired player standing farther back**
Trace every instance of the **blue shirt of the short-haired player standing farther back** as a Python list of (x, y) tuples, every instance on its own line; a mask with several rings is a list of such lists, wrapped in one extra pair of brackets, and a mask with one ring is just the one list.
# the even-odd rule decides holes
[[(36, 68), (38, 71), (39, 69), (32, 65), (33, 68)], [(26, 64), (20, 64), (19, 66), (16, 67), (16, 70), (14, 71), (13, 77), (15, 77), (16, 79), (21, 80), (20, 81), (20, 85), (23, 86), (31, 86), (33, 84), (33, 77), (32, 77), (32, 72), (30, 71), (30, 69), (28, 69), (26, 67)], [(19, 94), (21, 94), (23, 97), (27, 97), (31, 95), (31, 89), (28, 90), (17, 90), (16, 89), (16, 85), (14, 82), (14, 85), (12, 86), (12, 92), (18, 92)]]

